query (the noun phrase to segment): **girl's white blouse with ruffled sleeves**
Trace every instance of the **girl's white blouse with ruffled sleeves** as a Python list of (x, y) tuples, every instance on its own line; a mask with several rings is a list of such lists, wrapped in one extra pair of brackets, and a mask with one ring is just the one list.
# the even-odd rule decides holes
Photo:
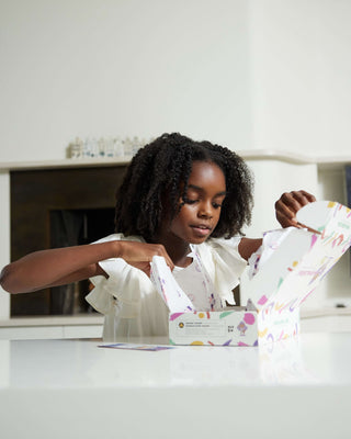
[[(97, 243), (120, 239), (144, 241), (137, 236), (113, 234)], [(235, 304), (231, 291), (247, 266), (238, 252), (239, 241), (238, 237), (211, 238), (201, 245), (192, 245), (189, 256), (193, 257), (193, 262), (184, 269), (174, 269), (176, 280), (196, 309), (208, 306), (204, 303), (204, 289), (208, 284), (219, 301)], [(168, 308), (148, 275), (122, 258), (106, 259), (99, 264), (109, 278), (91, 278), (94, 289), (86, 299), (105, 316), (104, 341), (128, 336), (168, 335)], [(200, 282), (201, 277), (206, 278), (204, 282)]]

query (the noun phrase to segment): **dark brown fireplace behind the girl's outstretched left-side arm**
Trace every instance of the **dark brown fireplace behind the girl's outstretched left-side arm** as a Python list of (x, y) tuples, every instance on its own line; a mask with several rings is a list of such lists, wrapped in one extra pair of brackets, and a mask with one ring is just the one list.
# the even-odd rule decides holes
[[(124, 165), (11, 171), (11, 260), (113, 233), (115, 192), (124, 171)], [(14, 294), (11, 317), (90, 313), (88, 292), (86, 281)]]

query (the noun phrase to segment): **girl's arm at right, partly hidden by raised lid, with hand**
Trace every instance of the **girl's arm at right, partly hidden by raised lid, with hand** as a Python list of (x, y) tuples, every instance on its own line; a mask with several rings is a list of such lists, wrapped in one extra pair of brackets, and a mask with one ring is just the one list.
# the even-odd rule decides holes
[[(306, 191), (284, 192), (275, 202), (275, 216), (282, 227), (303, 227), (298, 225), (296, 213), (306, 204), (313, 203), (316, 198)], [(242, 238), (239, 244), (241, 258), (248, 260), (262, 245), (262, 239)]]

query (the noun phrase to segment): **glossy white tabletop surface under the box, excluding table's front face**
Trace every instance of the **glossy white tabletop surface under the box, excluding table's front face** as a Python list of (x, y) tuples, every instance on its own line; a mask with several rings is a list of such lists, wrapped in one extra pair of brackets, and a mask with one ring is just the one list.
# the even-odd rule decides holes
[[(128, 342), (166, 345), (165, 339)], [(343, 385), (351, 337), (302, 334), (262, 347), (100, 348), (101, 340), (0, 340), (0, 389)]]

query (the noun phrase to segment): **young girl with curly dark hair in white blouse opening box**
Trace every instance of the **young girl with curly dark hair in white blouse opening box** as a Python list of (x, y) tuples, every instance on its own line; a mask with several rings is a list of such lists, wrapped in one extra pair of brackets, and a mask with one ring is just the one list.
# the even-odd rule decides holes
[[(210, 142), (163, 134), (133, 158), (116, 195), (115, 230), (98, 243), (37, 251), (10, 263), (1, 285), (10, 293), (91, 279), (88, 302), (105, 315), (104, 340), (166, 335), (168, 309), (149, 279), (162, 256), (195, 308), (233, 304), (233, 289), (261, 239), (242, 236), (251, 219), (252, 180), (245, 161)], [(285, 193), (275, 203), (283, 227), (315, 198)]]

